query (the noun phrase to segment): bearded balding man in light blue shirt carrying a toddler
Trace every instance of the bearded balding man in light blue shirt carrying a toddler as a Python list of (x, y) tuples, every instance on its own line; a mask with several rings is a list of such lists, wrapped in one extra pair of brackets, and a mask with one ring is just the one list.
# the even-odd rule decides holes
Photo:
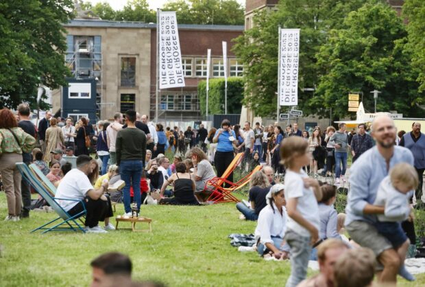
[(397, 163), (413, 165), (410, 150), (394, 146), (396, 127), (387, 115), (379, 115), (372, 124), (372, 136), (376, 146), (367, 150), (350, 169), (351, 190), (348, 193), (345, 228), (359, 245), (374, 251), (384, 269), (379, 282), (396, 284), (400, 269), (400, 256), (387, 239), (378, 233), (374, 223), (376, 215), (383, 214), (385, 206), (373, 205), (380, 182), (389, 169)]

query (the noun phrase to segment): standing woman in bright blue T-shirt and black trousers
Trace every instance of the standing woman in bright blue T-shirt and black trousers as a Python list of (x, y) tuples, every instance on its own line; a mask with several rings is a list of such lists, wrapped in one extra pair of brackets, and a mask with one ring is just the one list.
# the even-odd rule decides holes
[[(217, 151), (214, 156), (217, 176), (223, 176), (223, 173), (233, 161), (233, 144), (236, 144), (236, 135), (232, 131), (229, 120), (221, 122), (221, 128), (215, 132), (213, 142), (217, 143)], [(233, 182), (233, 173), (228, 176), (228, 180)]]

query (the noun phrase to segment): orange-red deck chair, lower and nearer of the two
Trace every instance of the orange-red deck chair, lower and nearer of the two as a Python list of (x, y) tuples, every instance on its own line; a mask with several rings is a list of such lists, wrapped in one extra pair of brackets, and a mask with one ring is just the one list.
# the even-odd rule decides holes
[(252, 174), (254, 172), (258, 172), (263, 168), (263, 165), (257, 165), (254, 169), (252, 169), (252, 172), (241, 178), (237, 182), (230, 182), (228, 180), (223, 179), (223, 182), (226, 182), (230, 185), (228, 188), (223, 188), (221, 185), (213, 185), (213, 189), (208, 189), (209, 191), (212, 191), (210, 194), (210, 197), (208, 197), (207, 202), (213, 202), (213, 204), (217, 203), (223, 203), (223, 202), (239, 202), (234, 195), (232, 195), (232, 192), (238, 191), (239, 189), (242, 189), (245, 187), (245, 185), (250, 182)]

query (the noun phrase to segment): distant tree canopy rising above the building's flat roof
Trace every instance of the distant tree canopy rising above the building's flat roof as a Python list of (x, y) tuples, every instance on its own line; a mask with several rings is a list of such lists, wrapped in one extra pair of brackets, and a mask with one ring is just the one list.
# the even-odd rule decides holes
[[(96, 5), (86, 2), (89, 8), (104, 20), (141, 21), (156, 23), (156, 11), (149, 9), (146, 0), (130, 0), (123, 10), (113, 10), (109, 3)], [(244, 9), (236, 0), (178, 0), (163, 5), (162, 11), (176, 11), (180, 24), (243, 25)]]

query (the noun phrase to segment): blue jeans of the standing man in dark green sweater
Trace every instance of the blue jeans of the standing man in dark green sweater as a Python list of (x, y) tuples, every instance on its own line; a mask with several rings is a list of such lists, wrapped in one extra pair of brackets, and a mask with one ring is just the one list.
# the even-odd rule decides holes
[(127, 160), (121, 161), (119, 165), (119, 174), (121, 180), (124, 180), (125, 187), (123, 189), (123, 201), (125, 213), (130, 213), (132, 208), (130, 206), (130, 186), (134, 190), (134, 202), (137, 203), (137, 210), (141, 208), (141, 176), (143, 170), (142, 161)]

